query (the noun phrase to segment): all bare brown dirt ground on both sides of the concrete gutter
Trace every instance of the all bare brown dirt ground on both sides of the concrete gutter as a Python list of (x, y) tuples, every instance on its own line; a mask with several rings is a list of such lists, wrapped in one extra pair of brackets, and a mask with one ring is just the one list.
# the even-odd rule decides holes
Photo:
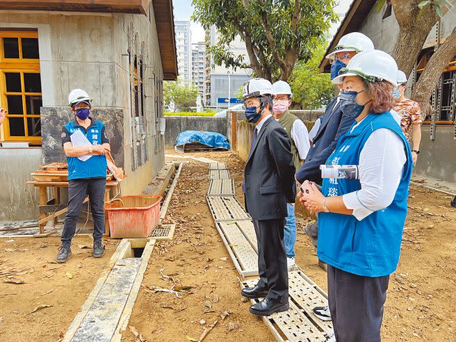
[[(189, 155), (226, 162), (243, 204), (243, 162), (236, 154)], [(195, 161), (184, 166), (165, 220), (177, 225), (174, 240), (154, 247), (129, 326), (149, 342), (174, 342), (197, 340), (217, 321), (204, 341), (274, 341), (240, 295), (238, 273), (206, 204), (208, 169)], [(456, 341), (456, 209), (450, 200), (411, 186), (401, 259), (385, 305), (384, 341)], [(296, 262), (326, 290), (326, 273), (302, 231), (307, 222), (298, 217)], [(118, 241), (107, 242), (106, 256), (95, 260), (90, 238), (77, 236), (72, 259), (60, 265), (54, 263), (58, 238), (1, 238), (0, 341), (58, 341), (117, 247)], [(182, 298), (152, 290), (174, 282), (186, 286)], [(123, 335), (123, 341), (135, 341), (131, 332)]]

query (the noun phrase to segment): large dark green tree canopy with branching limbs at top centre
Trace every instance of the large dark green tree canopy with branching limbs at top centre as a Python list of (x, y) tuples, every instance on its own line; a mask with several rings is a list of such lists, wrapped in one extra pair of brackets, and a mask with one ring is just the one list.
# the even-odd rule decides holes
[[(214, 63), (252, 68), (257, 77), (286, 81), (297, 60), (312, 57), (315, 46), (337, 15), (335, 0), (192, 0), (193, 19), (220, 33), (211, 47)], [(236, 56), (228, 47), (239, 35), (247, 50)]]

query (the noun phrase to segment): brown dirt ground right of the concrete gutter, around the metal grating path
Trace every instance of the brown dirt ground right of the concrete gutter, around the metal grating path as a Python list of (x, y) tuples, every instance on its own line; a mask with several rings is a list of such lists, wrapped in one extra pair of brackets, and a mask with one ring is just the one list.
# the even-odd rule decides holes
[[(174, 154), (172, 151), (168, 153)], [(186, 154), (228, 163), (243, 204), (243, 162), (232, 152)], [(199, 339), (205, 327), (218, 323), (204, 341), (274, 341), (259, 318), (248, 312), (239, 293), (238, 273), (218, 236), (205, 194), (208, 166), (191, 161), (184, 167), (174, 193), (167, 222), (176, 223), (174, 240), (158, 243), (149, 261), (130, 327), (147, 341)], [(450, 197), (418, 186), (411, 187), (409, 216), (402, 255), (391, 276), (385, 305), (384, 341), (456, 341), (456, 210)], [(309, 222), (298, 217), (296, 262), (326, 290), (326, 273), (317, 266), (316, 250), (302, 229)], [(177, 298), (150, 288), (191, 286)], [(231, 314), (222, 319), (223, 311)], [(134, 341), (124, 332), (124, 341)]]

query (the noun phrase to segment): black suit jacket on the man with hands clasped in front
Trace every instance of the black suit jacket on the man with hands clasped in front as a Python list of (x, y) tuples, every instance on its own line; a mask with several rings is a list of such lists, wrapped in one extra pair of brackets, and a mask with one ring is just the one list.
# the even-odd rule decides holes
[(285, 129), (270, 117), (261, 127), (245, 164), (245, 209), (254, 220), (287, 216), (295, 202), (295, 166)]

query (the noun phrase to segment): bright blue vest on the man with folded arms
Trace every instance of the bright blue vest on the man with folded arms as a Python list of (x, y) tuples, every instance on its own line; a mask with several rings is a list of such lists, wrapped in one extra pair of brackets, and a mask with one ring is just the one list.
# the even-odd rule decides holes
[[(74, 125), (74, 121), (65, 124), (70, 135), (79, 129), (92, 145), (101, 145), (101, 129), (103, 124), (92, 119), (92, 124), (86, 131), (79, 125)], [(106, 177), (106, 156), (91, 156), (87, 161), (81, 161), (77, 157), (67, 157), (68, 179)]]

